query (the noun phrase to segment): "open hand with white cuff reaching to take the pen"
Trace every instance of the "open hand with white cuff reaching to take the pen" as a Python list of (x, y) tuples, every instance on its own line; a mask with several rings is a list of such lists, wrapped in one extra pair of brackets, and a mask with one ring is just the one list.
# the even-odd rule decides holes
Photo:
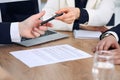
[(39, 37), (40, 35), (43, 35), (47, 30), (47, 27), (52, 26), (52, 24), (50, 23), (46, 23), (40, 26), (40, 23), (42, 21), (39, 19), (44, 14), (45, 14), (45, 11), (42, 11), (20, 22), (19, 23), (20, 36), (25, 38), (36, 38), (36, 37)]

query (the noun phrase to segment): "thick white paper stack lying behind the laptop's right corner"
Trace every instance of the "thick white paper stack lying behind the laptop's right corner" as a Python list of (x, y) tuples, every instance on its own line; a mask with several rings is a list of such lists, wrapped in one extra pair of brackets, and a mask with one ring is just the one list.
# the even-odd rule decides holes
[(80, 39), (99, 38), (101, 32), (99, 31), (88, 31), (88, 30), (74, 30), (74, 37)]

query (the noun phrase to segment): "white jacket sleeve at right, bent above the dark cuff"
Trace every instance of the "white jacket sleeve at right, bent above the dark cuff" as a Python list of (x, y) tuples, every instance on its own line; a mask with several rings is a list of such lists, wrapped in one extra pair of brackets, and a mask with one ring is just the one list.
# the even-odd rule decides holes
[(96, 3), (94, 6), (87, 5), (86, 10), (89, 14), (88, 25), (106, 25), (114, 13), (115, 0), (109, 0), (109, 3), (108, 0), (88, 0), (88, 3), (93, 4), (92, 1), (98, 1), (98, 4)]

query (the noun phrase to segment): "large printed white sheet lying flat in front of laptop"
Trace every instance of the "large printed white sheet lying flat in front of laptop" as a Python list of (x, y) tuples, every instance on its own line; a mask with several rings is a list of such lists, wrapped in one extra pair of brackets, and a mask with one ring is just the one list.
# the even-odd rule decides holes
[(10, 53), (29, 67), (92, 57), (67, 44)]

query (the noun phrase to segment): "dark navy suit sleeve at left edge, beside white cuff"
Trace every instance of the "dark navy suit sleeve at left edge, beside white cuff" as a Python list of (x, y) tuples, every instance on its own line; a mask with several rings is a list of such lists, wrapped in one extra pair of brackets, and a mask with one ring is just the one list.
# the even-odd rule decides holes
[(10, 44), (10, 23), (0, 23), (0, 44)]

